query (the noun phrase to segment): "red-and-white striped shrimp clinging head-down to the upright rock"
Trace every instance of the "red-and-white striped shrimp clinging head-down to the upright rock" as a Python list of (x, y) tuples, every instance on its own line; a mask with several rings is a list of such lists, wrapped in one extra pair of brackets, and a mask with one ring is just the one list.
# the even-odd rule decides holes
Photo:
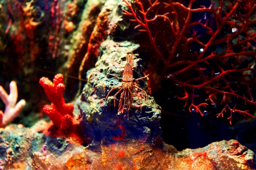
[[(138, 86), (136, 86), (136, 81), (138, 81), (140, 79), (144, 79), (144, 78), (148, 77), (148, 75), (146, 75), (144, 77), (140, 77), (138, 79), (133, 78), (132, 64), (131, 64), (132, 54), (128, 54), (126, 60), (127, 60), (127, 63), (124, 66), (124, 73), (123, 73), (122, 78), (119, 78), (116, 75), (107, 73), (107, 75), (112, 75), (113, 77), (116, 77), (119, 80), (119, 82), (122, 82), (122, 84), (121, 84), (121, 86), (117, 86), (117, 87), (112, 88), (108, 92), (108, 95), (106, 96), (105, 100), (107, 100), (108, 96), (110, 95), (110, 93), (112, 91), (114, 91), (115, 89), (119, 89), (117, 91), (117, 93), (114, 95), (114, 106), (116, 106), (117, 94), (121, 93), (120, 99), (119, 99), (119, 106), (118, 106), (117, 114), (120, 115), (120, 114), (124, 113), (125, 112), (125, 107), (126, 107), (127, 120), (129, 120), (129, 110), (132, 106), (133, 96), (136, 95), (139, 99), (139, 95), (138, 95), (138, 93), (135, 89), (139, 89), (140, 91), (145, 93), (146, 100), (148, 99), (146, 91), (144, 91), (142, 88), (139, 88)], [(140, 99), (139, 99), (139, 107), (140, 107), (140, 111), (141, 111)]]

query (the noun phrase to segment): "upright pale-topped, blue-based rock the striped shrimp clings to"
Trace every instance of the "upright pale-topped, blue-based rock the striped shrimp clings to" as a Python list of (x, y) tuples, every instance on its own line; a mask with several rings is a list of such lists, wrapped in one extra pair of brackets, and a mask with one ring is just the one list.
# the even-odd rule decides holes
[[(118, 101), (120, 93), (116, 96), (116, 106), (114, 106), (114, 95), (118, 90), (113, 91), (106, 100), (108, 92), (122, 82), (116, 77), (107, 76), (112, 73), (121, 77), (124, 65), (126, 64), (127, 53), (131, 53), (138, 48), (137, 44), (130, 42), (114, 42), (106, 40), (101, 44), (104, 49), (103, 55), (96, 63), (96, 67), (88, 71), (88, 84), (83, 89), (81, 102), (79, 103), (82, 115), (81, 124), (83, 134), (88, 137), (89, 144), (99, 146), (126, 141), (147, 142), (152, 145), (162, 145), (160, 128), (161, 108), (156, 104), (153, 97), (137, 91), (140, 103), (136, 95), (133, 96), (131, 109), (118, 115)], [(143, 77), (140, 59), (133, 55), (132, 66), (134, 68), (134, 78)], [(138, 82), (138, 86), (146, 90), (145, 79)]]

